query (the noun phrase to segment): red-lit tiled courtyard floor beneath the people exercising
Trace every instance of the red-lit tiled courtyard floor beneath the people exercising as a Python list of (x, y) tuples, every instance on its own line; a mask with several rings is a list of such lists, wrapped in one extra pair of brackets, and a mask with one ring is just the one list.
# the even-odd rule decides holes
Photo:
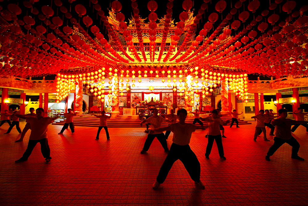
[[(21, 123), (23, 128), (24, 122)], [(225, 127), (223, 145), (227, 160), (219, 158), (214, 143), (210, 159), (205, 159), (207, 130), (193, 133), (190, 146), (201, 163), (197, 187), (180, 161), (157, 190), (152, 184), (165, 157), (154, 140), (148, 153), (140, 154), (147, 134), (144, 128), (109, 128), (95, 141), (97, 128), (76, 127), (76, 133), (50, 125), (48, 141), (51, 163), (37, 145), (26, 162), (14, 163), (26, 150), (24, 142), (14, 142), (19, 134), (8, 125), (0, 128), (0, 204), (172, 204), (172, 205), (307, 205), (308, 134), (300, 126), (294, 137), (301, 144), (299, 156), (290, 158), (291, 147), (283, 145), (268, 162), (264, 159), (273, 144), (262, 136), (253, 141), (254, 125)], [(172, 133), (167, 140), (171, 145)]]

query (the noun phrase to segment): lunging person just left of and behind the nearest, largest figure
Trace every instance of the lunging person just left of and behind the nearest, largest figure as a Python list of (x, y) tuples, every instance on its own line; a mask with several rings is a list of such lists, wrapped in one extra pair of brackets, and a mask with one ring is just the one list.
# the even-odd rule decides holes
[[(172, 123), (172, 121), (169, 121), (168, 119), (164, 119), (163, 117), (160, 117), (157, 114), (158, 114), (158, 110), (153, 109), (153, 116), (149, 117), (148, 119), (141, 121), (140, 126), (142, 126), (142, 124), (144, 122), (151, 123), (151, 129), (154, 130), (154, 129), (160, 128), (162, 122)], [(144, 154), (149, 150), (149, 148), (150, 148), (150, 146), (151, 146), (155, 137), (158, 139), (161, 146), (163, 146), (164, 151), (167, 152), (167, 153), (169, 152), (169, 149), (168, 149), (168, 146), (167, 146), (167, 141), (166, 141), (164, 133), (154, 132), (153, 134), (150, 134), (150, 133), (148, 134), (148, 137), (144, 142), (143, 149), (140, 152), (141, 154)]]

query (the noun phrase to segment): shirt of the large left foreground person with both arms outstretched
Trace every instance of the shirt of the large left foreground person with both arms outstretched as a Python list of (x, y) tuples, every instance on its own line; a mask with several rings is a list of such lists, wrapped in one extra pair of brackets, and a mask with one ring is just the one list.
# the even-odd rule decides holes
[(31, 134), (30, 140), (39, 140), (47, 138), (47, 126), (53, 122), (51, 117), (42, 117), (38, 119), (37, 117), (27, 117), (26, 122), (30, 123)]

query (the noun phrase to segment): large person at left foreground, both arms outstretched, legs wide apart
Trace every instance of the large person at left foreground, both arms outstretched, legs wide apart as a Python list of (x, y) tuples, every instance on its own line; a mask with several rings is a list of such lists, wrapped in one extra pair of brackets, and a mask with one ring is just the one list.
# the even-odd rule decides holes
[(35, 145), (39, 142), (41, 144), (41, 152), (46, 160), (46, 163), (50, 163), (50, 148), (47, 140), (47, 127), (58, 117), (44, 117), (44, 109), (36, 109), (36, 117), (25, 117), (20, 114), (16, 116), (25, 119), (27, 123), (31, 126), (31, 134), (29, 137), (29, 142), (26, 151), (23, 153), (22, 158), (16, 160), (15, 162), (23, 162), (28, 160), (32, 153)]

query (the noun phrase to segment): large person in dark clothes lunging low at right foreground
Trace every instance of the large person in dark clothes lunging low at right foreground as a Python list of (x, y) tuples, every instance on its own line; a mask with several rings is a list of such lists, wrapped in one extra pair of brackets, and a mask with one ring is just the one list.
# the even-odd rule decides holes
[(276, 150), (278, 150), (278, 148), (284, 143), (288, 143), (292, 146), (291, 158), (304, 161), (305, 159), (301, 158), (297, 154), (300, 145), (291, 134), (291, 125), (306, 124), (308, 121), (295, 121), (292, 119), (287, 119), (286, 117), (288, 116), (288, 110), (286, 109), (279, 109), (278, 114), (280, 116), (277, 119), (272, 120), (272, 125), (275, 126), (274, 144), (270, 147), (265, 159), (270, 161), (270, 156), (274, 155)]

